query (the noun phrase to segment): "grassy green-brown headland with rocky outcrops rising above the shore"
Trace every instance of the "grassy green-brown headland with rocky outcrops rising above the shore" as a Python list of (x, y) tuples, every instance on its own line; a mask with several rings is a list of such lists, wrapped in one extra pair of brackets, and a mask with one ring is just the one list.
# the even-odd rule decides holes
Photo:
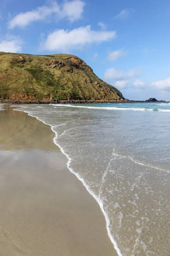
[(0, 52), (0, 100), (56, 99), (120, 100), (124, 97), (74, 55)]

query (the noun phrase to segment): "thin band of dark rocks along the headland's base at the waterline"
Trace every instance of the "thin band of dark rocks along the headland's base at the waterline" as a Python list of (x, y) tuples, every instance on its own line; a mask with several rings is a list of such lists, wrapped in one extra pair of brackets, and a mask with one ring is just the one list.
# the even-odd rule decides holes
[(146, 102), (166, 102), (166, 101), (157, 101), (157, 100), (146, 100), (146, 101), (137, 101), (129, 99), (120, 99), (120, 100), (49, 100), (49, 101), (22, 101), (22, 100), (0, 100), (1, 104), (90, 104), (90, 103), (146, 103)]

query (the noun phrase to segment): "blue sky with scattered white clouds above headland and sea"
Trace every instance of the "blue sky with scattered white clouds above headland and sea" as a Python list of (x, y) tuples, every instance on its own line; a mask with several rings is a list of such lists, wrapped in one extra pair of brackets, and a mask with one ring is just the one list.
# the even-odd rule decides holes
[(77, 55), (126, 99), (170, 100), (170, 0), (0, 0), (0, 51)]

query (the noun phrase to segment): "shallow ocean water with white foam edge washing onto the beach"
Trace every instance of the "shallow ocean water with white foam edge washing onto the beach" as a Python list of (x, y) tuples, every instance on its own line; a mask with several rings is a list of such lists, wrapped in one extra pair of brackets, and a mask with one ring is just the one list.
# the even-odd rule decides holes
[(68, 169), (99, 203), (119, 256), (170, 256), (170, 103), (16, 110), (51, 126)]

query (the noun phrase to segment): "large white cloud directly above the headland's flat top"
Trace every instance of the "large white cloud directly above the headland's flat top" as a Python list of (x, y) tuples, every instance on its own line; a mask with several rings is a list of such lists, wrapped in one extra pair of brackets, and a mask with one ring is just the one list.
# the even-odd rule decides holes
[(91, 26), (79, 27), (71, 31), (59, 29), (48, 35), (43, 49), (65, 51), (79, 49), (87, 44), (100, 43), (116, 38), (115, 31), (94, 31)]

